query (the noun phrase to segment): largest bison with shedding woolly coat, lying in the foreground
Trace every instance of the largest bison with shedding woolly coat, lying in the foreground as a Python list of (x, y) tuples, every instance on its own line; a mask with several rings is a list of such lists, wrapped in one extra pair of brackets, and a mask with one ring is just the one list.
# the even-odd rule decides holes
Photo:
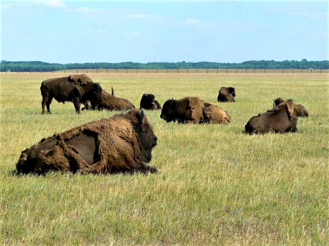
[(22, 151), (16, 169), (23, 174), (51, 170), (154, 173), (157, 169), (147, 163), (156, 145), (157, 137), (144, 110), (133, 109), (43, 138)]

